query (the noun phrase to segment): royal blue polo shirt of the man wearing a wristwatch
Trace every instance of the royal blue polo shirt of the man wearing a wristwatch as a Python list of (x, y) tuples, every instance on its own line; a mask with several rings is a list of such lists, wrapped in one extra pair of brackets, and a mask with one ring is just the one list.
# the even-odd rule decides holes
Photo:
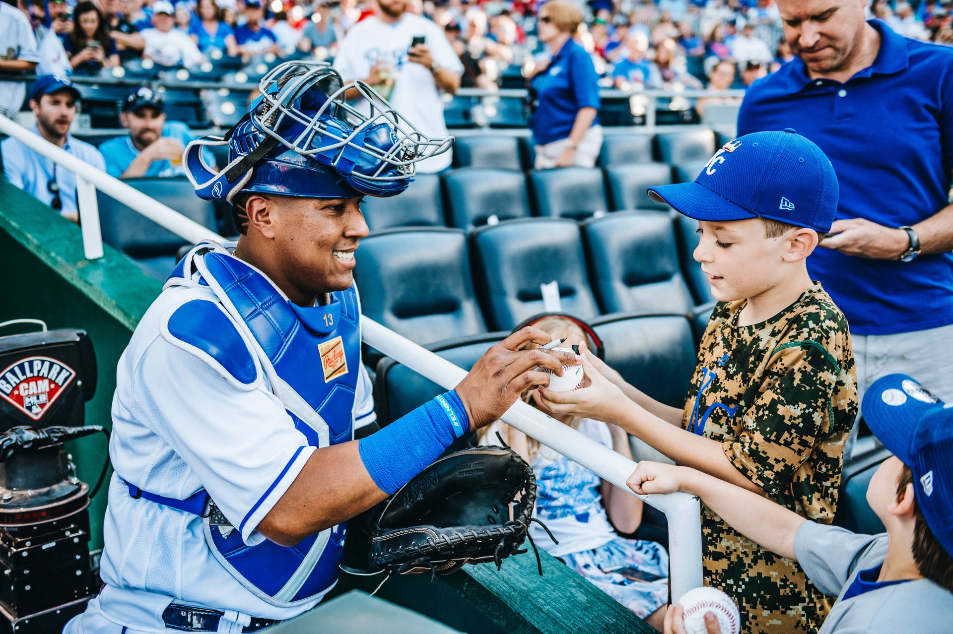
[[(902, 37), (879, 20), (881, 50), (846, 83), (808, 77), (801, 59), (755, 82), (739, 135), (794, 128), (830, 158), (837, 219), (914, 225), (948, 205), (953, 168), (953, 48)], [(817, 248), (807, 260), (851, 332), (883, 335), (953, 324), (953, 253), (909, 263)]]

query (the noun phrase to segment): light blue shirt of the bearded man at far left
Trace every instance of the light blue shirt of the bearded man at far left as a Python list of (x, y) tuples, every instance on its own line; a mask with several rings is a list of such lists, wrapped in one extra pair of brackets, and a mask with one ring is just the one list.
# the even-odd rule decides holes
[[(40, 133), (36, 126), (33, 126), (32, 131), (37, 135)], [(94, 168), (106, 167), (103, 165), (103, 155), (98, 149), (74, 139), (71, 135), (67, 135), (63, 149)], [(60, 212), (77, 210), (76, 176), (69, 169), (56, 166), (51, 159), (36, 153), (16, 139), (6, 139), (0, 143), (0, 153), (3, 154), (4, 173), (12, 185), (23, 189), (41, 203), (50, 205), (53, 200), (50, 185), (55, 179), (59, 186), (60, 201), (63, 203)]]

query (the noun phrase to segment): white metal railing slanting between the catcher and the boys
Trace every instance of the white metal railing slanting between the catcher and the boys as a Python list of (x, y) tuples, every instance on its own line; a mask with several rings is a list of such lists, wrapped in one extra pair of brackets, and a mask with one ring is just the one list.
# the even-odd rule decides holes
[[(79, 190), (80, 181), (83, 182), (78, 202), (83, 224), (83, 244), (88, 259), (96, 259), (103, 255), (96, 206), (96, 188), (185, 240), (190, 242), (200, 242), (205, 239), (224, 240), (211, 229), (202, 227), (106, 172), (93, 168), (2, 115), (0, 115), (0, 132), (22, 141), (30, 149), (50, 158), (57, 165), (73, 171), (76, 174), (77, 190)], [(464, 369), (456, 367), (430, 350), (417, 346), (414, 342), (377, 324), (374, 320), (362, 317), (361, 327), (365, 343), (439, 386), (453, 389), (466, 376)], [(576, 461), (579, 465), (585, 466), (607, 482), (635, 495), (625, 485), (625, 481), (635, 470), (636, 463), (622, 457), (612, 449), (598, 444), (571, 427), (558, 423), (521, 401), (517, 401), (510, 407), (503, 414), (502, 420), (537, 439), (543, 445), (550, 446)], [(699, 499), (686, 493), (637, 497), (658, 508), (668, 519), (672, 598), (678, 600), (685, 592), (702, 584)]]

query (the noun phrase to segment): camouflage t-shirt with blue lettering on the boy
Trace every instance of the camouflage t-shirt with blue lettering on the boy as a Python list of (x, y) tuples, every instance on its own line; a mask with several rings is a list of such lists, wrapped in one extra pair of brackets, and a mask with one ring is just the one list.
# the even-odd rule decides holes
[[(715, 307), (682, 426), (721, 443), (768, 497), (830, 524), (857, 376), (841, 310), (820, 284), (790, 307), (738, 327), (746, 300)], [(816, 632), (830, 609), (801, 566), (745, 539), (702, 507), (705, 581), (739, 604), (741, 632)]]

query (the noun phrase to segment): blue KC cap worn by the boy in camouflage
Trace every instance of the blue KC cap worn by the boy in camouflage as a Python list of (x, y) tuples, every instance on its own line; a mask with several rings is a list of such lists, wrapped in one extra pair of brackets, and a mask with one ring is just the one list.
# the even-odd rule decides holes
[(837, 175), (815, 144), (788, 128), (721, 146), (693, 183), (649, 188), (649, 197), (696, 220), (771, 218), (826, 233), (837, 211)]

